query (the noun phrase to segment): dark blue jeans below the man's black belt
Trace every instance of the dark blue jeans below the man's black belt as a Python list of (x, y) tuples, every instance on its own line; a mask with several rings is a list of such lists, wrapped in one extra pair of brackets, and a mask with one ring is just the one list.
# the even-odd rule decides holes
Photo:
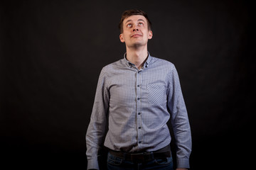
[(153, 159), (145, 163), (134, 163), (124, 160), (108, 153), (107, 154), (108, 170), (173, 170), (172, 157), (166, 159)]

